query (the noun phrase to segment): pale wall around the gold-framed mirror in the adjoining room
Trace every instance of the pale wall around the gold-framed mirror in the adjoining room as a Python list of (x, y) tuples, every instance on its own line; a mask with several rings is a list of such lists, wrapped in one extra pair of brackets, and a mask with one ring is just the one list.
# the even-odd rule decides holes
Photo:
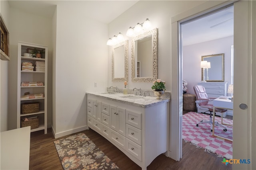
[(201, 82), (200, 62), (204, 55), (224, 53), (224, 82), (230, 84), (231, 45), (234, 45), (234, 36), (183, 47), (183, 79), (188, 82), (186, 86), (188, 88), (187, 93), (194, 94), (193, 87)]

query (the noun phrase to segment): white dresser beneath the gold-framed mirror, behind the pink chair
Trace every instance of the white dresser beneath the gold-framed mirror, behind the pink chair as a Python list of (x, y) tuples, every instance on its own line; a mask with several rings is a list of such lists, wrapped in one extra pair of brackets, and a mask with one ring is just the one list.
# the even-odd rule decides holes
[(218, 98), (220, 96), (227, 96), (227, 82), (199, 82), (208, 95), (208, 98)]

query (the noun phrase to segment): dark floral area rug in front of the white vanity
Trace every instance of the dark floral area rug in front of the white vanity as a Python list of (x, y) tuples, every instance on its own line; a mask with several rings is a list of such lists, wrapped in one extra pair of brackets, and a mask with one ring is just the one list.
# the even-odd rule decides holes
[(84, 133), (54, 141), (64, 170), (118, 170)]

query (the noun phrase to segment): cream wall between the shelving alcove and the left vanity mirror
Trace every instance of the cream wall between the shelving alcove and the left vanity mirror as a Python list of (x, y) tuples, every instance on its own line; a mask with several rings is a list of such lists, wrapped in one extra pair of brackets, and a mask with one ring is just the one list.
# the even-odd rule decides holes
[(86, 16), (84, 2), (57, 6), (55, 137), (87, 129), (85, 93), (107, 85), (107, 25)]

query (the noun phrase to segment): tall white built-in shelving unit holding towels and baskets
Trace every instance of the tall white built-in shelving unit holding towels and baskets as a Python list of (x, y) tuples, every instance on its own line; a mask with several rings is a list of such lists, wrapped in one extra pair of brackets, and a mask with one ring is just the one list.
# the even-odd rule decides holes
[[(41, 58), (24, 57), (32, 49), (44, 49), (45, 54)], [(48, 47), (32, 43), (18, 42), (18, 84), (17, 84), (17, 128), (21, 127), (21, 120), (25, 117), (38, 116), (39, 127), (31, 129), (31, 132), (44, 130), (47, 133), (47, 54)], [(45, 71), (36, 71), (36, 61), (45, 62)], [(33, 71), (22, 71), (22, 63), (30, 62), (34, 66)], [(21, 86), (22, 82), (43, 82), (43, 86)], [(29, 94), (44, 94), (44, 98), (21, 99), (26, 92)], [(39, 112), (22, 114), (21, 104), (39, 102)]]

